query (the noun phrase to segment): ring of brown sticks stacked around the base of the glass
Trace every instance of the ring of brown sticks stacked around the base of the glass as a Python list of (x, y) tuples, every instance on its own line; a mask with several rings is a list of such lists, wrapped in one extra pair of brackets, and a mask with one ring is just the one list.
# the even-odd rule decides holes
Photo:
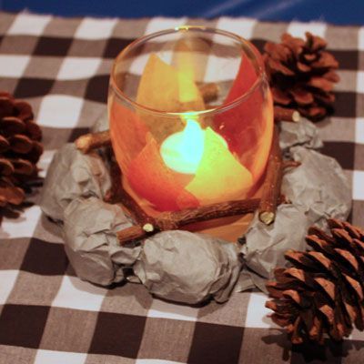
[[(278, 108), (275, 107), (275, 112)], [(278, 120), (295, 121), (292, 110), (278, 111)], [(299, 115), (298, 115), (299, 117)], [(84, 153), (88, 153), (97, 147), (110, 146), (110, 135), (108, 130), (80, 136), (76, 140), (76, 147)], [(189, 224), (207, 221), (220, 217), (230, 217), (252, 213), (258, 209), (259, 219), (269, 225), (273, 223), (276, 217), (276, 209), (281, 202), (280, 187), (283, 172), (286, 167), (298, 167), (299, 163), (295, 161), (283, 162), (278, 140), (278, 127), (274, 128), (272, 146), (268, 157), (268, 167), (265, 181), (262, 187), (262, 196), (260, 199), (243, 199), (238, 201), (228, 201), (218, 204), (211, 204), (197, 208), (187, 208), (176, 212), (164, 212), (157, 217), (150, 217), (139, 207), (136, 200), (131, 197), (122, 187), (121, 171), (118, 167), (115, 157), (110, 156), (111, 167), (110, 174), (112, 177), (112, 187), (106, 194), (106, 201), (110, 203), (121, 203), (131, 213), (136, 221), (136, 225), (128, 227), (117, 232), (117, 238), (120, 244), (125, 244), (131, 240), (146, 238), (159, 231), (177, 229)]]

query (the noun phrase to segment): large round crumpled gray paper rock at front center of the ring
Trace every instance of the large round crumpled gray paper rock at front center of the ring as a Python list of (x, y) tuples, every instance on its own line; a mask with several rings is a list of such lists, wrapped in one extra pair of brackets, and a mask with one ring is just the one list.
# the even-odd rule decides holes
[(157, 297), (195, 304), (226, 301), (240, 268), (236, 244), (176, 230), (147, 238), (134, 272)]

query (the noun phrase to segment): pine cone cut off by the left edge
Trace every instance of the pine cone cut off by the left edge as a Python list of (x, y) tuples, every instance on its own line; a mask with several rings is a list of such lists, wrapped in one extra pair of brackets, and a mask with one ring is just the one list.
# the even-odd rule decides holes
[(32, 107), (0, 92), (0, 207), (24, 201), (27, 184), (37, 177), (36, 163), (43, 153), (41, 138)]

